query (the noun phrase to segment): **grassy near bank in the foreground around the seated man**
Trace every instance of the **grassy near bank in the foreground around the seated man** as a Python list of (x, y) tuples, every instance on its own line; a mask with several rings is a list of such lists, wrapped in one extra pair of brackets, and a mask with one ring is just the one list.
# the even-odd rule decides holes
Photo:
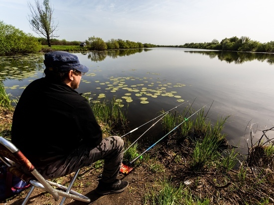
[[(10, 139), (12, 113), (9, 95), (3, 85), (0, 85), (0, 135)], [(88, 96), (86, 97), (88, 99)], [(102, 101), (91, 103), (95, 116), (102, 127), (103, 135), (122, 135), (127, 133), (126, 110), (119, 106), (120, 102)], [(142, 155), (142, 159), (131, 164), (135, 169), (146, 170), (154, 176), (154, 180), (143, 186), (133, 183), (129, 194), (136, 197), (136, 202), (142, 205), (269, 205), (274, 204), (274, 139), (270, 139), (269, 132), (274, 128), (264, 130), (258, 142), (247, 140), (248, 155), (237, 152), (237, 147), (230, 146), (226, 134), (222, 129), (229, 116), (221, 117), (212, 124), (203, 109), (185, 120), (191, 113), (195, 113), (191, 105), (178, 113), (167, 113), (161, 124), (164, 133), (170, 133), (157, 143), (153, 149)], [(164, 110), (162, 110), (164, 113)], [(185, 121), (184, 121), (185, 120)], [(181, 123), (184, 121), (183, 123)], [(180, 124), (181, 123), (181, 124)], [(170, 132), (175, 126), (180, 126)], [(252, 127), (252, 126), (251, 126)], [(130, 162), (138, 153), (143, 152), (142, 146), (125, 140), (126, 147), (124, 161)], [(86, 190), (87, 180), (102, 169), (102, 161), (94, 163), (86, 170), (85, 177), (80, 177), (75, 189)], [(134, 173), (129, 173), (130, 175)], [(66, 181), (66, 177), (59, 180)], [(134, 188), (134, 186), (137, 186)], [(131, 195), (135, 192), (135, 195)], [(123, 194), (126, 194), (125, 191)], [(138, 193), (138, 194), (137, 194)], [(121, 194), (121, 196), (124, 196)], [(7, 200), (16, 202), (25, 192)], [(41, 193), (40, 193), (41, 195)], [(43, 195), (43, 194), (42, 194)], [(44, 196), (45, 198), (46, 196)], [(39, 197), (40, 198), (40, 197)], [(51, 197), (36, 199), (39, 204), (53, 204)], [(52, 199), (51, 199), (52, 200)], [(125, 202), (127, 199), (125, 199)]]

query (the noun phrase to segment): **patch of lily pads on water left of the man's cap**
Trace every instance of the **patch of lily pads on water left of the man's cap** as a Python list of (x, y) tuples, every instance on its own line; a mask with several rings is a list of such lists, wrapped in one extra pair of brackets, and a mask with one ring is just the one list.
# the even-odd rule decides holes
[(29, 78), (29, 73), (44, 70), (41, 54), (16, 55), (0, 58), (0, 80)]

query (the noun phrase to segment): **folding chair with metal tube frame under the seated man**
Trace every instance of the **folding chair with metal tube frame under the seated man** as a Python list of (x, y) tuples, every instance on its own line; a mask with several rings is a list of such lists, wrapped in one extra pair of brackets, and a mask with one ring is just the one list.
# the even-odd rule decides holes
[[(27, 196), (25, 197), (22, 205), (25, 205), (27, 203), (34, 188), (38, 188), (48, 192), (49, 194), (52, 195), (52, 197), (54, 198), (56, 202), (59, 200), (59, 196), (63, 197), (60, 205), (63, 205), (67, 198), (81, 201), (81, 202), (87, 202), (87, 203), (90, 202), (90, 199), (88, 197), (71, 190), (73, 183), (79, 174), (80, 169), (75, 173), (68, 187), (45, 180), (40, 175), (40, 173), (35, 169), (35, 167), (31, 164), (31, 162), (23, 155), (23, 153), (17, 147), (14, 144), (12, 144), (10, 140), (7, 140), (1, 136), (0, 136), (0, 160), (3, 161), (8, 166), (7, 170), (9, 172), (11, 172), (13, 175), (20, 177), (22, 180), (28, 182), (29, 184), (31, 184), (31, 188)], [(16, 168), (15, 164), (25, 167), (32, 174), (32, 176), (21, 172), (19, 169)]]

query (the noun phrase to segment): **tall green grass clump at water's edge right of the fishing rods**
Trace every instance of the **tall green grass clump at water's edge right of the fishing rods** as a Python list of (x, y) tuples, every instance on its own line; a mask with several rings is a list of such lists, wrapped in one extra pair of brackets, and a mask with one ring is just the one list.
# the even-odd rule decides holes
[[(191, 114), (190, 111), (189, 114)], [(195, 119), (189, 118), (185, 120), (185, 114), (167, 114), (162, 120), (163, 130), (168, 132), (172, 130), (176, 124), (183, 122), (180, 129), (176, 130), (178, 138), (188, 138), (192, 141), (193, 153), (191, 155), (190, 167), (193, 171), (203, 171), (210, 169), (213, 164), (220, 164), (227, 170), (231, 170), (235, 166), (235, 158), (237, 154), (222, 155), (220, 146), (225, 142), (225, 134), (222, 134), (224, 123), (229, 116), (218, 119), (214, 125), (204, 116), (204, 109), (197, 112)], [(178, 139), (180, 140), (180, 139)]]

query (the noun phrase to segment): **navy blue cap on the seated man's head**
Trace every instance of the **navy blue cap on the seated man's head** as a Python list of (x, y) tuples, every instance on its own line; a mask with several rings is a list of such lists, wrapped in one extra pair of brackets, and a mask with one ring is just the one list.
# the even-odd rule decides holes
[(46, 68), (58, 72), (77, 70), (87, 73), (89, 68), (81, 65), (76, 55), (65, 51), (52, 51), (45, 54)]

